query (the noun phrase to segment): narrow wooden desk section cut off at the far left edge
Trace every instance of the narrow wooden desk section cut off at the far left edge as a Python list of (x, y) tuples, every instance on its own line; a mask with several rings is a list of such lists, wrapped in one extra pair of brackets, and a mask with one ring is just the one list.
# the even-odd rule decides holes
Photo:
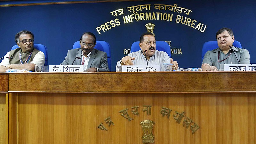
[(7, 92), (8, 92), (8, 74), (0, 73), (0, 143), (1, 144), (8, 143), (8, 93)]

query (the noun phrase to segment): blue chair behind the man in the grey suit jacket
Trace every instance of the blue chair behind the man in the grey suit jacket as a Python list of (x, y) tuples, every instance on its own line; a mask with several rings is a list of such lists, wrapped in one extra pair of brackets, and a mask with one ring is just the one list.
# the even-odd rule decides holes
[[(79, 43), (80, 43), (80, 41), (76, 41), (73, 45), (73, 49), (80, 48), (81, 46)], [(107, 53), (108, 68), (111, 71), (111, 55), (110, 55), (110, 46), (109, 46), (108, 42), (96, 40), (96, 45), (94, 48)]]

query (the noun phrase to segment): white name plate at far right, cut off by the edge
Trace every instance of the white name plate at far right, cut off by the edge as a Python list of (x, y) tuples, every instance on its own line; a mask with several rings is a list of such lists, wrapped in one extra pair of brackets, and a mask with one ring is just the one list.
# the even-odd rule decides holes
[(224, 71), (256, 71), (256, 64), (224, 64)]

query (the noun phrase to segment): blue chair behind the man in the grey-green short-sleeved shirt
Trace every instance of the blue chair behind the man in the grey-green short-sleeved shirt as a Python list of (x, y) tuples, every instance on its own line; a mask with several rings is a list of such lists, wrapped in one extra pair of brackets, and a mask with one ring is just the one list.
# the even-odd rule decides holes
[[(235, 47), (242, 48), (241, 43), (240, 43), (239, 41), (237, 41), (237, 40), (235, 40), (235, 41), (233, 42), (233, 45), (234, 45)], [(211, 51), (211, 50), (216, 49), (216, 48), (218, 48), (218, 47), (219, 47), (219, 46), (218, 46), (218, 42), (217, 42), (217, 41), (207, 41), (207, 42), (205, 42), (204, 45), (203, 45), (203, 48), (202, 48), (202, 62), (203, 62), (203, 60), (204, 60), (204, 54), (205, 54), (207, 51)]]

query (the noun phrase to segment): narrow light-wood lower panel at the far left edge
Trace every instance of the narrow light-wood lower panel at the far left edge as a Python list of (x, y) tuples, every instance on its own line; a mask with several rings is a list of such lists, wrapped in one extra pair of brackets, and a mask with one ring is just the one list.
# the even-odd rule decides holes
[[(0, 93), (0, 144), (6, 143), (6, 104), (5, 95)], [(8, 135), (7, 135), (8, 136)]]

